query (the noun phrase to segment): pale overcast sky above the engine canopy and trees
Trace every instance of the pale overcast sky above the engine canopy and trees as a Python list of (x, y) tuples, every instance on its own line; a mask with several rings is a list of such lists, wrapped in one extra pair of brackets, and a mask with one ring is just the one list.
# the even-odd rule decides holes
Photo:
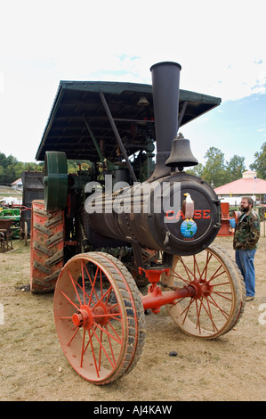
[(181, 128), (204, 163), (254, 161), (266, 142), (266, 0), (0, 0), (0, 152), (35, 161), (60, 80), (151, 83), (181, 64), (181, 89), (222, 98)]

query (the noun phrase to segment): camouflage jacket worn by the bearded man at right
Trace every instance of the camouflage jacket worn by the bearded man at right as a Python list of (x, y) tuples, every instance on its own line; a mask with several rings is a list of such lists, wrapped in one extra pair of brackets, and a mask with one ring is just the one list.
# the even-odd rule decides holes
[(234, 249), (253, 250), (260, 238), (260, 218), (254, 209), (243, 212), (238, 220), (234, 234)]

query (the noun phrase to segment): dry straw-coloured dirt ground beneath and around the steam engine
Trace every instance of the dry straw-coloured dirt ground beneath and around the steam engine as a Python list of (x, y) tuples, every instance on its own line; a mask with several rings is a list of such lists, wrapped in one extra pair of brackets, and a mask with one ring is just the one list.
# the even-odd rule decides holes
[[(232, 237), (217, 237), (214, 244), (234, 257)], [(20, 290), (29, 282), (29, 244), (14, 242), (14, 251), (0, 254), (0, 267), (0, 400), (266, 400), (263, 229), (255, 256), (256, 298), (233, 330), (201, 341), (182, 333), (164, 309), (149, 314), (139, 362), (105, 386), (85, 382), (69, 366), (55, 331), (53, 295)], [(171, 351), (177, 356), (170, 357)]]

